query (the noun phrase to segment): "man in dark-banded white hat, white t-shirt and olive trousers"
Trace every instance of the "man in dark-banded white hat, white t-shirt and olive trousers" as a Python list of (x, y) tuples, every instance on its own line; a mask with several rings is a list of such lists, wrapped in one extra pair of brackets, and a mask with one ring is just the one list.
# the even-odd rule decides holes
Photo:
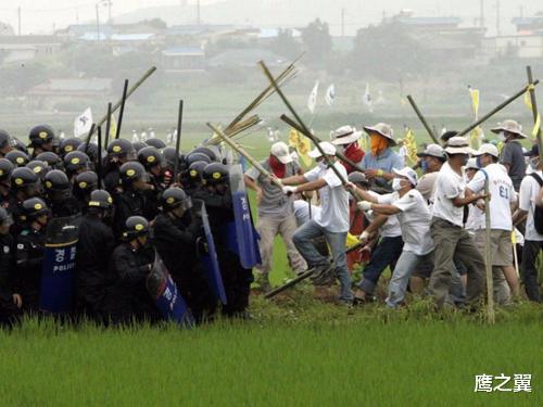
[(435, 263), (428, 291), (439, 307), (445, 304), (455, 267), (453, 258), (456, 258), (467, 269), (467, 302), (475, 306), (483, 292), (484, 259), (470, 234), (464, 229), (464, 206), (484, 199), (485, 195), (466, 196), (465, 193), (463, 166), (471, 153), (467, 139), (452, 137), (445, 153), (447, 162), (443, 164), (435, 180), (433, 219), (430, 228), (435, 242)]

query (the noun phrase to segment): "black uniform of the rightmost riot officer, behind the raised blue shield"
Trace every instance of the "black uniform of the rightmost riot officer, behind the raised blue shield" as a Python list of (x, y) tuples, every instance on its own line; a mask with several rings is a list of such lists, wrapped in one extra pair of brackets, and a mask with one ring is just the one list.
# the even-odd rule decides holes
[(252, 270), (243, 268), (238, 255), (227, 249), (226, 236), (220, 230), (223, 226), (233, 221), (230, 191), (219, 195), (206, 189), (200, 189), (194, 192), (193, 198), (205, 203), (213, 237), (216, 239), (217, 257), (228, 301), (228, 304), (223, 307), (223, 313), (236, 316), (249, 306), (251, 282), (254, 279)]

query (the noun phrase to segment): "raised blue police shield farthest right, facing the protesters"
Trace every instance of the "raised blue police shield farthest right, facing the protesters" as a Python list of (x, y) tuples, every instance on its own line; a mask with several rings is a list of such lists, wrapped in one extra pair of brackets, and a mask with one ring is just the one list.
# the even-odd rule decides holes
[(240, 165), (230, 167), (230, 190), (235, 221), (226, 227), (228, 249), (238, 254), (243, 268), (253, 268), (262, 263), (251, 206)]

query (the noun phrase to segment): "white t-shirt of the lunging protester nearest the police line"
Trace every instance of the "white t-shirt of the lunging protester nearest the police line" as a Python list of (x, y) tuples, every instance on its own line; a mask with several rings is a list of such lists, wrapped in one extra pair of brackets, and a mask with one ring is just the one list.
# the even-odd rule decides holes
[[(346, 179), (345, 167), (336, 162), (333, 166)], [(304, 174), (304, 178), (312, 182), (323, 178), (327, 186), (319, 190), (320, 212), (313, 219), (332, 233), (346, 233), (349, 231), (349, 192), (343, 188), (332, 168), (317, 166)]]

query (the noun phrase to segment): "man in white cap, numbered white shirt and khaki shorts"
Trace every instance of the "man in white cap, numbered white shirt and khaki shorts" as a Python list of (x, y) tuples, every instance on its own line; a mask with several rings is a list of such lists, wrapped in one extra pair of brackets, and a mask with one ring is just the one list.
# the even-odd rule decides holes
[[(515, 297), (519, 295), (519, 282), (517, 271), (513, 265), (513, 220), (512, 205), (517, 202), (517, 195), (513, 188), (513, 181), (507, 175), (507, 169), (497, 164), (498, 152), (493, 144), (482, 144), (478, 152), (473, 153), (477, 164), (481, 168), (468, 183), (468, 191), (479, 193), (484, 191), (488, 181), (491, 200), (490, 211), (490, 258), (492, 262), (492, 274), (496, 302), (507, 304), (510, 295), (504, 287), (504, 277), (509, 284), (510, 292)], [(478, 202), (479, 209), (484, 207), (484, 201)], [(487, 225), (479, 228), (475, 233), (475, 241), (481, 254), (485, 251)], [(505, 290), (503, 289), (505, 288)]]

